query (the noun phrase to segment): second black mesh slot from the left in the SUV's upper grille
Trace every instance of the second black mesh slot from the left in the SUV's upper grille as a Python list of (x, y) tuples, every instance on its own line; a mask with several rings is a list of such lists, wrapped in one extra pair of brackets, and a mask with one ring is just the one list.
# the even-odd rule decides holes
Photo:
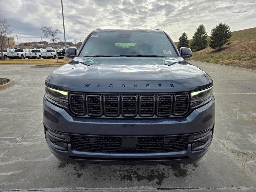
[(100, 95), (86, 95), (86, 106), (88, 115), (102, 115), (102, 99)]

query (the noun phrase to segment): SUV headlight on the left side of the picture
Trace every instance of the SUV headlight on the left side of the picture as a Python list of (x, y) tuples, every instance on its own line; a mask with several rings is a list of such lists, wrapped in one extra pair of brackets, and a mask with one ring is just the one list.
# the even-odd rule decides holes
[(60, 107), (68, 108), (68, 92), (45, 86), (45, 98)]

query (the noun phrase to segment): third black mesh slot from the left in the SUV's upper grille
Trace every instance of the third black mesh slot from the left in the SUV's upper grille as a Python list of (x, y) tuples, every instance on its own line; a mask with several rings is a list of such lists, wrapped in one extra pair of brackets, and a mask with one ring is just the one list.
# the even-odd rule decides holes
[(104, 96), (104, 109), (106, 116), (119, 116), (120, 102), (119, 97), (116, 95)]

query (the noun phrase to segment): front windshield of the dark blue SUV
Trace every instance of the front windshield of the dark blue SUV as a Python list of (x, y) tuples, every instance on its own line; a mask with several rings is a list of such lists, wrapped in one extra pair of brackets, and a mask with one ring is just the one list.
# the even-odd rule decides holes
[(149, 31), (94, 32), (79, 56), (94, 55), (177, 57), (165, 33)]

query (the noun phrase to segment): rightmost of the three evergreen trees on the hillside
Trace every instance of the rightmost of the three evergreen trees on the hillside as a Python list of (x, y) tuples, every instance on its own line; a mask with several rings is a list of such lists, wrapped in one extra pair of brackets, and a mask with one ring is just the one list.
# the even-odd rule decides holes
[(218, 24), (211, 30), (210, 47), (213, 49), (221, 49), (223, 45), (229, 45), (232, 33), (227, 24)]

